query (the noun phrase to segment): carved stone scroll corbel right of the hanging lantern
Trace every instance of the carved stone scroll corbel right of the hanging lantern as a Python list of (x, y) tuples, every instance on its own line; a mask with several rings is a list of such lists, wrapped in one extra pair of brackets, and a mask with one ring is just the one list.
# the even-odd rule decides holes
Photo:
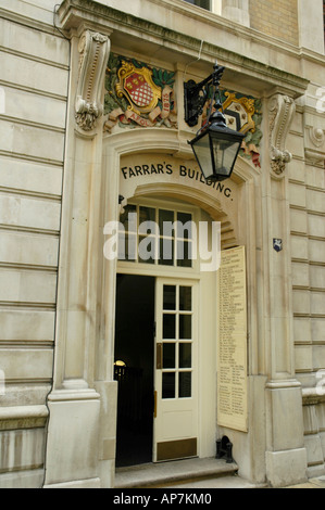
[(286, 163), (292, 158), (292, 154), (285, 149), (287, 135), (296, 112), (296, 103), (292, 98), (283, 94), (273, 95), (270, 100), (270, 157), (271, 168), (277, 177), (283, 176)]

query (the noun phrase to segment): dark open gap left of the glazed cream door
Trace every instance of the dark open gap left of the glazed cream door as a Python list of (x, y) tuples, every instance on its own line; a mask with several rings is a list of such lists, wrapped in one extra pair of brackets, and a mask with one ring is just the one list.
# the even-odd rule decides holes
[(153, 277), (117, 275), (116, 467), (152, 461), (154, 284)]

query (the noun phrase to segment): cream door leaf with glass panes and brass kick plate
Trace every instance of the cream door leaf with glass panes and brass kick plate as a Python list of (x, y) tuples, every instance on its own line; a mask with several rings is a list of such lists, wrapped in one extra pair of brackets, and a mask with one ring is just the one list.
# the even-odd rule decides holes
[(157, 279), (153, 461), (198, 454), (198, 283)]

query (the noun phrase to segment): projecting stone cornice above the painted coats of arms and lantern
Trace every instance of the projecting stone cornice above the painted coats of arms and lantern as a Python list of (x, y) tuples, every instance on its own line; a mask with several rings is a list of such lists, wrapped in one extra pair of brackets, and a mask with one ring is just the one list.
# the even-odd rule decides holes
[[(177, 8), (177, 3), (175, 2), (173, 9)], [(135, 41), (140, 41), (143, 50), (146, 49), (146, 43), (150, 44), (151, 48), (152, 44), (158, 48), (163, 47), (165, 54), (170, 52), (171, 58), (174, 54), (175, 59), (175, 52), (178, 53), (185, 65), (197, 58), (198, 54), (200, 54), (200, 64), (203, 66), (205, 64), (207, 67), (210, 67), (211, 63), (214, 63), (217, 59), (220, 63), (226, 64), (225, 81), (238, 82), (238, 79), (240, 79), (242, 87), (260, 91), (261, 94), (272, 95), (279, 92), (298, 98), (304, 93), (309, 85), (309, 80), (301, 76), (266, 65), (261, 61), (236, 53), (224, 47), (211, 42), (202, 42), (200, 39), (187, 34), (92, 0), (64, 0), (58, 14), (61, 29), (70, 36), (88, 28), (111, 35), (112, 46), (114, 46), (114, 39), (117, 37), (118, 46), (121, 47), (122, 35), (125, 48), (130, 43), (135, 43)], [(232, 25), (235, 25), (233, 22), (216, 15), (212, 15), (210, 20), (204, 12), (193, 14), (203, 18), (204, 22), (207, 20), (207, 23), (216, 24), (215, 28), (220, 30), (229, 29)], [(238, 26), (236, 24), (237, 31)], [(243, 34), (246, 34), (246, 37), (252, 37), (250, 29), (240, 27), (239, 36)], [(296, 58), (299, 58), (299, 54), (296, 53)]]

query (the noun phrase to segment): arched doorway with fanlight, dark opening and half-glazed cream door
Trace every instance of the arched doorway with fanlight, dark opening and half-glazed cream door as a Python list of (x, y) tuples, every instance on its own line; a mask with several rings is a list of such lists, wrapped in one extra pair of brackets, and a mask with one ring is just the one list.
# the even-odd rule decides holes
[[(143, 191), (137, 190), (120, 216), (116, 466), (196, 457), (204, 450), (213, 455), (215, 447), (212, 265), (221, 250), (220, 222), (179, 200), (186, 197), (184, 188), (178, 195), (176, 188), (149, 196)], [(203, 405), (204, 399), (212, 404)]]

